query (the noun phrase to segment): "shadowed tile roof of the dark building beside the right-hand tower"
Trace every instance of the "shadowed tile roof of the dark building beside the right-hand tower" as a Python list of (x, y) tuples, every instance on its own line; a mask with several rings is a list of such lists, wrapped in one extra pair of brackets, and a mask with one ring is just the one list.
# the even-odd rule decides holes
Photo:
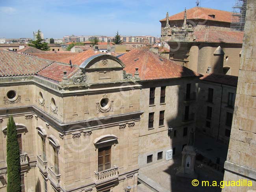
[(211, 73), (205, 74), (203, 77), (200, 78), (200, 80), (237, 87), (238, 77), (225, 74)]

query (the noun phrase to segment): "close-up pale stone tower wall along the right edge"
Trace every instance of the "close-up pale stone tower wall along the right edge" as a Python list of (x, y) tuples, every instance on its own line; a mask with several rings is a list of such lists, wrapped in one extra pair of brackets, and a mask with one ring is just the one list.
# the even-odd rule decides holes
[[(243, 49), (239, 68), (236, 103), (224, 165), (224, 181), (246, 179), (256, 190), (256, 1), (247, 1)], [(241, 186), (224, 187), (223, 192), (241, 191)]]

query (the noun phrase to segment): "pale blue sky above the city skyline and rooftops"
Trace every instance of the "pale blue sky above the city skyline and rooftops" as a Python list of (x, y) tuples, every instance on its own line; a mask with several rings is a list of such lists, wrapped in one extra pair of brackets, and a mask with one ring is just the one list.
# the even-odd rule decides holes
[[(195, 7), (196, 0), (0, 0), (0, 37), (160, 35), (159, 20)], [(232, 11), (235, 0), (201, 0), (201, 7)]]

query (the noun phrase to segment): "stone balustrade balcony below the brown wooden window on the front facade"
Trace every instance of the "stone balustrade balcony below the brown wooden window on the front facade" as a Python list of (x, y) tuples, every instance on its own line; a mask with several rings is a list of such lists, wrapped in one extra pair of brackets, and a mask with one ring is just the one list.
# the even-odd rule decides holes
[(99, 185), (101, 183), (108, 183), (110, 181), (118, 179), (118, 167), (114, 166), (113, 168), (94, 172), (95, 174), (95, 184)]

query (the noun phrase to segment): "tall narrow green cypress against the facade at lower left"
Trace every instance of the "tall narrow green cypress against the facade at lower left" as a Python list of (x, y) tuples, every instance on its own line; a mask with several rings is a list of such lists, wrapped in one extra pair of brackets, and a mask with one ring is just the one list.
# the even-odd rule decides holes
[(7, 124), (7, 192), (20, 192), (20, 153), (13, 116)]

